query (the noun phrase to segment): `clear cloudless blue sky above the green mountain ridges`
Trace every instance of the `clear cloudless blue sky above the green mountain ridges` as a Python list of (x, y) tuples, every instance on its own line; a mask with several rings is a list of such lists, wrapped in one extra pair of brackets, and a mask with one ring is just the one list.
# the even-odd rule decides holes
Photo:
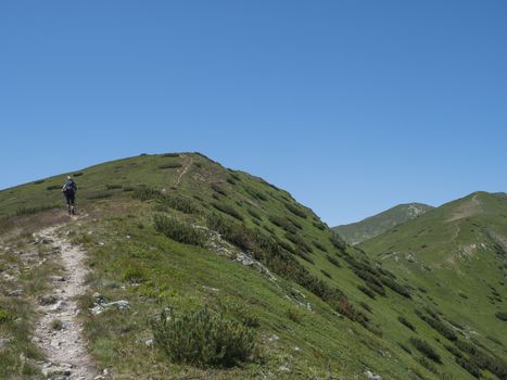
[(0, 2), (0, 188), (201, 151), (330, 225), (507, 190), (507, 1)]

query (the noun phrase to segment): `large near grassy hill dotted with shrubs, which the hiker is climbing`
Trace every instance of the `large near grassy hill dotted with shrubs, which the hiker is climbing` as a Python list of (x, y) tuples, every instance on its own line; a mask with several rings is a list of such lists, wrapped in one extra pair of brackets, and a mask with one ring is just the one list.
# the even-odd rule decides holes
[[(34, 250), (33, 231), (66, 223), (61, 232), (89, 255), (90, 294), (80, 300), (80, 317), (90, 354), (113, 378), (360, 379), (366, 370), (384, 379), (473, 378), (444, 347), (455, 341), (417, 316), (433, 309), (428, 293), (345, 244), (261, 178), (200, 154), (110, 162), (76, 177), (77, 220), (62, 211), (62, 179), (0, 192), (0, 313), (9, 316), (0, 319), (3, 377), (37, 378), (30, 300), (58, 263), (40, 244), (30, 259), (23, 252)], [(24, 293), (14, 299), (17, 287)], [(130, 308), (93, 315), (93, 292), (127, 300)], [(191, 315), (204, 306), (254, 331), (248, 360), (231, 368), (180, 364), (160, 342), (147, 344), (161, 311)], [(494, 360), (505, 353), (498, 342), (481, 340)]]

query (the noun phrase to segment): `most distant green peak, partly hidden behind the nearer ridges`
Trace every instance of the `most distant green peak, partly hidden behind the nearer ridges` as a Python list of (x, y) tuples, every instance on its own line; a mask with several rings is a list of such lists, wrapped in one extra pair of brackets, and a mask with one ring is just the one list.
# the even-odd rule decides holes
[(422, 203), (398, 204), (360, 221), (337, 226), (332, 229), (340, 233), (347, 243), (357, 244), (375, 238), (402, 223), (414, 219), (431, 208), (433, 206)]

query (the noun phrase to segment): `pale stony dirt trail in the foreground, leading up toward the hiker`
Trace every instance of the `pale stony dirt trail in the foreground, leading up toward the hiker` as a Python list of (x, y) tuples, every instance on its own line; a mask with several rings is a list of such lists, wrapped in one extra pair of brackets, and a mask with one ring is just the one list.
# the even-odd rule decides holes
[[(83, 326), (77, 319), (79, 308), (76, 296), (87, 292), (87, 269), (84, 263), (86, 252), (60, 237), (60, 228), (61, 226), (46, 228), (35, 235), (60, 255), (64, 270), (63, 276), (52, 278), (53, 287), (39, 305), (42, 316), (36, 324), (34, 340), (48, 360), (42, 365), (42, 372), (49, 379), (101, 379), (87, 353)], [(54, 328), (55, 320), (62, 322), (61, 329)]]

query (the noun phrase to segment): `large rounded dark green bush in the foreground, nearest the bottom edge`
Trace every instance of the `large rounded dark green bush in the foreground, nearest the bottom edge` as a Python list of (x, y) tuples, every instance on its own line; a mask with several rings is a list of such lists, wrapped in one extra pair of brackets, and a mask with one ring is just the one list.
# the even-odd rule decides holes
[(207, 308), (182, 315), (163, 312), (152, 330), (172, 363), (231, 367), (245, 362), (255, 347), (253, 329)]

